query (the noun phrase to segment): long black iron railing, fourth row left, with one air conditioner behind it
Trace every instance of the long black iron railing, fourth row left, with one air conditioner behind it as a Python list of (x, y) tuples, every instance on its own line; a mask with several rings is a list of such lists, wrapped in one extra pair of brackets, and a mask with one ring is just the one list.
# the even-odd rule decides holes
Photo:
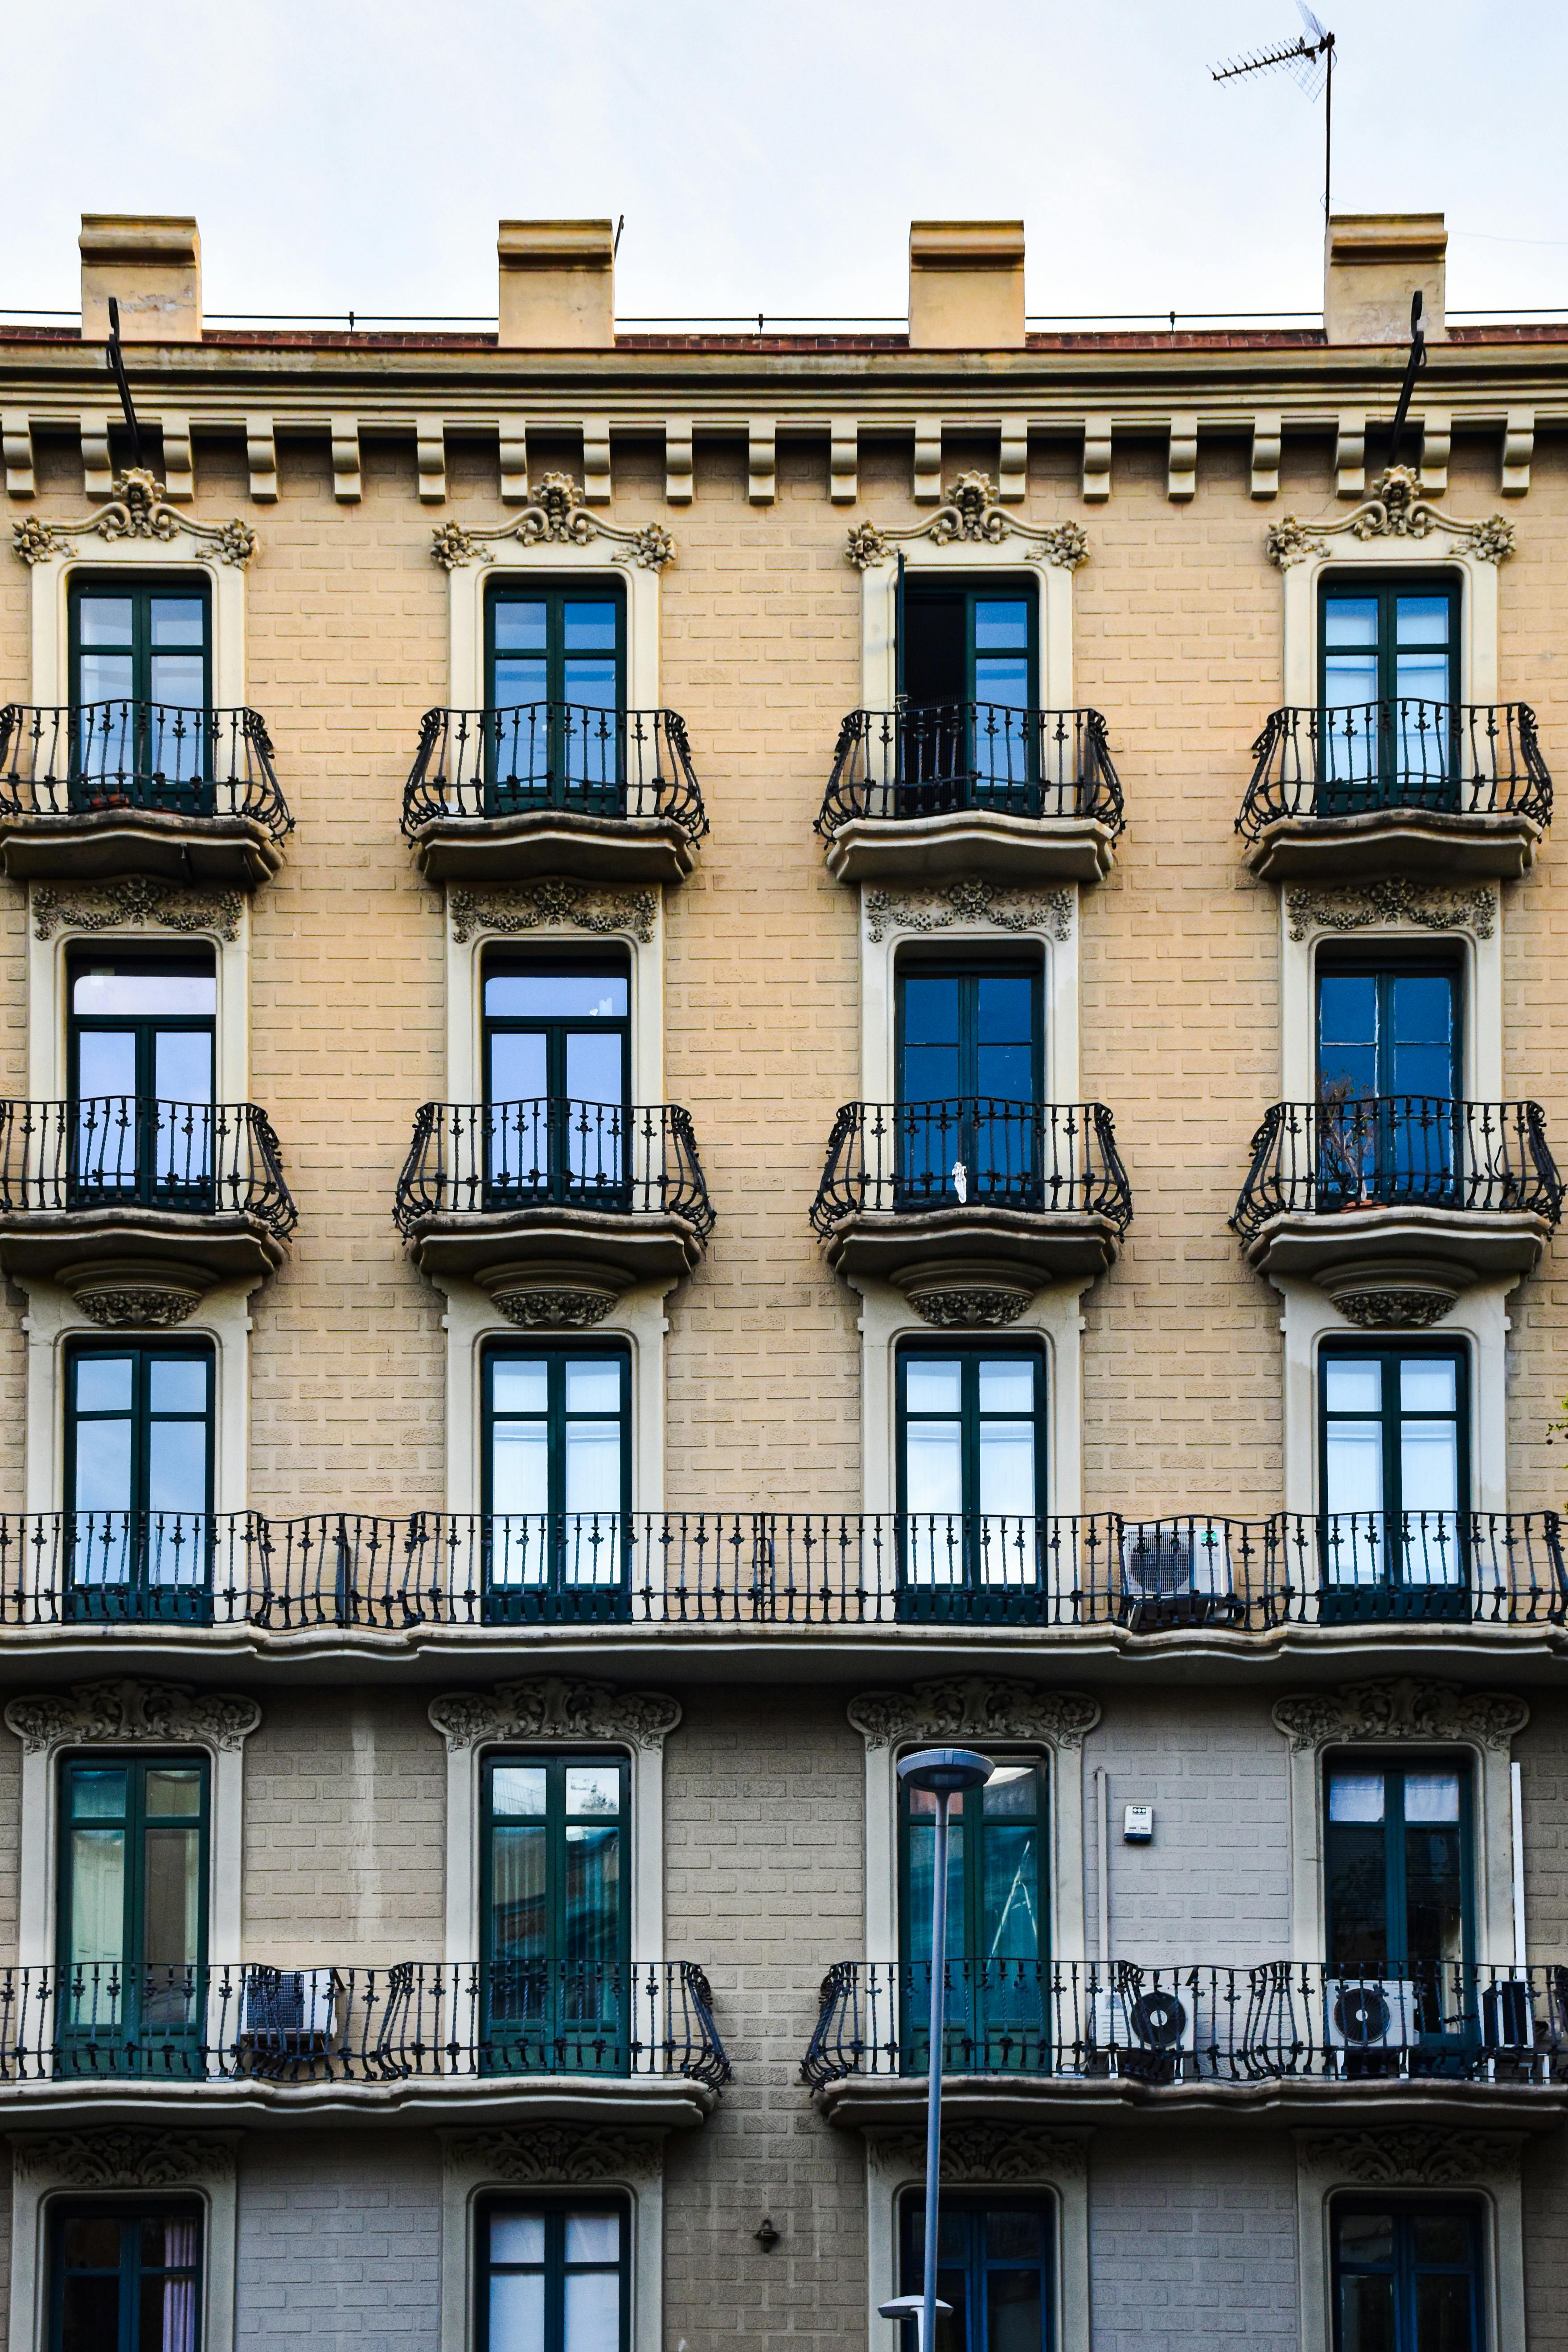
[(0, 2086), (494, 2074), (684, 2074), (717, 2089), (729, 2058), (689, 1959), (0, 1969)]

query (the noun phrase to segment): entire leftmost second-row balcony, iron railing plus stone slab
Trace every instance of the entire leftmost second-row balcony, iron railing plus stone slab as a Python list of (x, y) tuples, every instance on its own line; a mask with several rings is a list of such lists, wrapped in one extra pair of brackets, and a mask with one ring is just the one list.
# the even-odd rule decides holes
[(80, 1294), (183, 1279), (200, 1296), (273, 1272), (294, 1223), (280, 1143), (254, 1103), (0, 1103), (9, 1275), (59, 1277)]

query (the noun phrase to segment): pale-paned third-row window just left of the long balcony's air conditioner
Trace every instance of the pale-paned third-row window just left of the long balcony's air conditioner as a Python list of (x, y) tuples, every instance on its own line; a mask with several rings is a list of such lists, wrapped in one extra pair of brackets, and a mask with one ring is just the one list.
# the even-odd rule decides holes
[(1039, 1599), (1046, 1359), (1039, 1348), (898, 1350), (898, 1510), (912, 1611), (1027, 1613)]

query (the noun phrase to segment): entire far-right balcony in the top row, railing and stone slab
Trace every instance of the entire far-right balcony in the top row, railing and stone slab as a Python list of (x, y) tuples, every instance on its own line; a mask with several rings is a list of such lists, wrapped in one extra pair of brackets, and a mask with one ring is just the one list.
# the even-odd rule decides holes
[(1519, 877), (1552, 823), (1528, 703), (1415, 699), (1269, 713), (1237, 833), (1255, 875)]

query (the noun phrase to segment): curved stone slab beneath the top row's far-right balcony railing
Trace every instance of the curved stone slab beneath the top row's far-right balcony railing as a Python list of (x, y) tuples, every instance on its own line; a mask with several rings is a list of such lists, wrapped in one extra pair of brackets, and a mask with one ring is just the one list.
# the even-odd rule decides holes
[(1260, 882), (1519, 882), (1535, 866), (1542, 828), (1519, 811), (1363, 809), (1356, 816), (1279, 816), (1248, 844)]

